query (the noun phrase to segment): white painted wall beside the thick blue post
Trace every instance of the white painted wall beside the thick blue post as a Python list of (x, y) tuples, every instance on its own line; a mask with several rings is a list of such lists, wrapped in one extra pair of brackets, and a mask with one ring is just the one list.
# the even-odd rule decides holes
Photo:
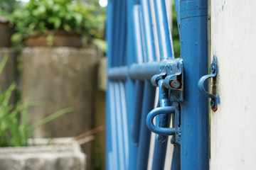
[(218, 111), (211, 113), (210, 169), (256, 169), (256, 1), (211, 1)]

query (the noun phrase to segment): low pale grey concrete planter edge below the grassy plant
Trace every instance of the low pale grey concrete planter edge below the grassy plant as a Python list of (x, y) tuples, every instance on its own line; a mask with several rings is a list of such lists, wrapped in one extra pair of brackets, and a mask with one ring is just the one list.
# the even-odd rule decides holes
[(32, 147), (0, 149), (0, 169), (3, 170), (84, 170), (85, 154), (73, 138), (33, 140)]

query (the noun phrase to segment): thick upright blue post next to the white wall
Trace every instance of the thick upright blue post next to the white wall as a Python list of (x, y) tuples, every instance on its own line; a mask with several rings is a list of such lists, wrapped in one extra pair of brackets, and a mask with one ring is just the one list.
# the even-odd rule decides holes
[(208, 74), (208, 1), (180, 0), (184, 101), (181, 103), (181, 169), (209, 169), (208, 99), (198, 80)]

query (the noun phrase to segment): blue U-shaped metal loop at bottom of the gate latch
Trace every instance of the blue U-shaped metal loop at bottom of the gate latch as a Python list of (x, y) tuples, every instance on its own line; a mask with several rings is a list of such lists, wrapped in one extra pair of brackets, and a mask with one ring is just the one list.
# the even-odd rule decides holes
[(154, 108), (152, 111), (150, 111), (149, 114), (146, 116), (146, 125), (149, 130), (159, 135), (174, 135), (176, 132), (175, 128), (160, 128), (156, 127), (153, 123), (153, 119), (156, 115), (171, 113), (175, 113), (174, 106)]

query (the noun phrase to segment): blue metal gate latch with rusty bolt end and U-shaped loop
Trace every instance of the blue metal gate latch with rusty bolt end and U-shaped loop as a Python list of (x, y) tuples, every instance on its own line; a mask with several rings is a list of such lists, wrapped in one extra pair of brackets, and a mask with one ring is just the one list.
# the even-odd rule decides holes
[[(171, 114), (179, 116), (179, 109), (174, 103), (183, 101), (183, 62), (181, 59), (162, 62), (159, 74), (151, 78), (151, 84), (159, 86), (159, 101), (146, 117), (146, 125), (151, 132), (156, 133), (156, 140), (164, 142), (168, 135), (180, 137), (178, 127), (169, 128)], [(170, 106), (173, 105), (173, 106)], [(153, 120), (156, 117), (154, 125)], [(176, 123), (178, 124), (178, 123)]]

